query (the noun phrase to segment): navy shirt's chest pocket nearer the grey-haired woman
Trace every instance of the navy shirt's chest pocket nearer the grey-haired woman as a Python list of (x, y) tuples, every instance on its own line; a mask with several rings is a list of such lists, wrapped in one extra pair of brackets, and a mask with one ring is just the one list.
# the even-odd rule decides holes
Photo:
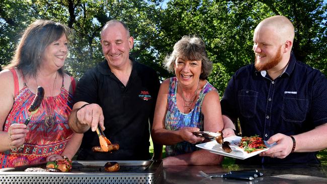
[(252, 118), (256, 114), (258, 91), (242, 89), (238, 91), (238, 105), (242, 116)]

